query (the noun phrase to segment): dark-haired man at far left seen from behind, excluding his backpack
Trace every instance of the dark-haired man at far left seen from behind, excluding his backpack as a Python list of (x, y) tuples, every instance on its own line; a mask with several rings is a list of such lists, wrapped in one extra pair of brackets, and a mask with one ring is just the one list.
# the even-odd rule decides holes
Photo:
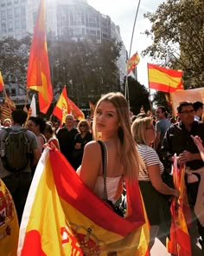
[[(27, 120), (27, 113), (22, 109), (16, 109), (12, 112), (12, 125), (10, 130), (20, 131), (22, 130), (22, 125)], [(10, 190), (10, 194), (13, 197), (16, 206), (16, 212), (18, 215), (19, 224), (22, 220), (22, 212), (29, 193), (30, 183), (32, 181), (32, 174), (30, 166), (36, 165), (41, 157), (41, 151), (38, 145), (37, 138), (35, 134), (29, 130), (25, 130), (26, 135), (29, 140), (29, 150), (30, 150), (30, 159), (28, 161), (27, 167), (20, 171), (10, 171), (3, 166), (3, 161), (0, 157), (0, 178), (6, 184)], [(0, 128), (0, 148), (2, 151), (3, 140), (7, 131), (5, 128)], [(23, 141), (22, 141), (23, 143)], [(14, 148), (15, 154), (16, 148)], [(2, 152), (1, 152), (2, 153)], [(17, 153), (16, 153), (17, 154)]]

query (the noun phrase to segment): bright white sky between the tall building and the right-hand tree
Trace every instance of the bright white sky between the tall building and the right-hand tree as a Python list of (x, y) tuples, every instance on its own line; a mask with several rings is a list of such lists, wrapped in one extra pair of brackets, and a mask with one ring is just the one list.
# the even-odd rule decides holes
[[(137, 4), (139, 0), (87, 0), (87, 2), (100, 13), (112, 18), (112, 22), (120, 27), (124, 45), (130, 52), (132, 28), (136, 16)], [(148, 88), (147, 62), (153, 63), (150, 57), (143, 58), (141, 52), (146, 49), (151, 40), (142, 35), (144, 30), (150, 30), (150, 22), (143, 17), (147, 11), (154, 12), (164, 0), (141, 0), (138, 10), (137, 22), (131, 47), (131, 56), (137, 51), (140, 62), (137, 65), (138, 82)]]

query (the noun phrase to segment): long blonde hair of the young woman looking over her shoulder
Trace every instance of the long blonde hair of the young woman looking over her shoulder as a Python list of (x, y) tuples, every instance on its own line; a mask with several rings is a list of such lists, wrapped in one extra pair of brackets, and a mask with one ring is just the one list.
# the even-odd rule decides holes
[(128, 103), (121, 93), (108, 93), (103, 95), (96, 105), (93, 117), (93, 137), (98, 140), (96, 128), (96, 115), (101, 102), (111, 102), (117, 110), (118, 128), (118, 160), (124, 167), (124, 176), (131, 181), (137, 179), (140, 161), (137, 153), (136, 143), (131, 135), (131, 118)]

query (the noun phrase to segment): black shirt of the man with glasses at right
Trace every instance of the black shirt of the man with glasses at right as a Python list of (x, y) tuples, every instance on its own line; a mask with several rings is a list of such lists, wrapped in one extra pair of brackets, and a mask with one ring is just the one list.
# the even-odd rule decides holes
[[(184, 150), (190, 153), (199, 153), (198, 148), (190, 135), (199, 135), (204, 141), (204, 123), (194, 121), (190, 132), (185, 128), (182, 122), (175, 123), (166, 132), (161, 148), (164, 161), (169, 161), (169, 157), (175, 153), (182, 154)], [(204, 167), (204, 162), (201, 160), (188, 161), (186, 164), (193, 170)]]

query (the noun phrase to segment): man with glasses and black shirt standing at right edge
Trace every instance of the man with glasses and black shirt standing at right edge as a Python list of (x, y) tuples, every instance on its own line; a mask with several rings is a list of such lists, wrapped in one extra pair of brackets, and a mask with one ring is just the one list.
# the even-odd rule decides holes
[(204, 162), (190, 135), (199, 135), (204, 141), (204, 123), (194, 121), (192, 102), (180, 102), (177, 115), (181, 119), (166, 132), (163, 139), (162, 153), (165, 161), (173, 161), (174, 154), (180, 166), (186, 166), (188, 200), (197, 217), (201, 246), (204, 249)]

